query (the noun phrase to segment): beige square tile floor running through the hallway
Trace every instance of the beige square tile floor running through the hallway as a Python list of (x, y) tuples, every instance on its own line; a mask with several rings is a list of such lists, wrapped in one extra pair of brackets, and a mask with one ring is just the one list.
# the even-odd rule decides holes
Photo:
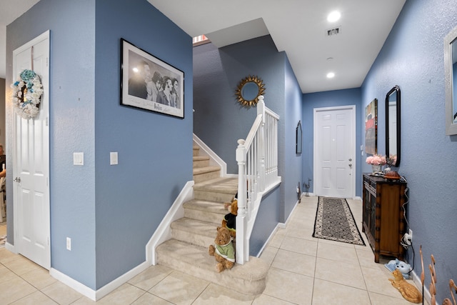
[[(362, 204), (348, 199), (361, 226)], [(411, 304), (391, 286), (369, 246), (313, 239), (317, 197), (303, 197), (261, 255), (270, 264), (266, 289), (246, 296), (164, 266), (151, 266), (94, 302), (49, 272), (0, 248), (0, 304)], [(0, 224), (1, 230), (6, 226)], [(366, 241), (365, 234), (362, 234)], [(383, 261), (385, 262), (385, 261)]]

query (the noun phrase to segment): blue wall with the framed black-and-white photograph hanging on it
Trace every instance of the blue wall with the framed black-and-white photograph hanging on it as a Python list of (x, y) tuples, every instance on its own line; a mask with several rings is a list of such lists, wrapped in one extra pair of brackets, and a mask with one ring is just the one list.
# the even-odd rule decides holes
[[(121, 37), (184, 71), (184, 119), (119, 105)], [(97, 0), (95, 71), (100, 287), (145, 261), (147, 242), (192, 180), (192, 39), (146, 0)], [(119, 165), (109, 165), (110, 151)]]

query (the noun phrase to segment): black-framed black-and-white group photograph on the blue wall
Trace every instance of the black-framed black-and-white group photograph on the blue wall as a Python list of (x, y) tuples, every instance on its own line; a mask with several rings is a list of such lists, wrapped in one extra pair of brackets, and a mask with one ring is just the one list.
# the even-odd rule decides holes
[(121, 105), (184, 119), (184, 72), (121, 39)]

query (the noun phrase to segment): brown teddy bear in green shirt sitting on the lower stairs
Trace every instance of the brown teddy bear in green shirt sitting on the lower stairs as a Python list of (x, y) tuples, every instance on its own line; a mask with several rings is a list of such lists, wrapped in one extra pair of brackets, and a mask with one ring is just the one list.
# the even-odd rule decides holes
[(214, 245), (209, 246), (209, 255), (214, 256), (216, 261), (216, 271), (221, 272), (231, 269), (235, 264), (235, 249), (231, 243), (230, 231), (227, 228), (218, 226)]

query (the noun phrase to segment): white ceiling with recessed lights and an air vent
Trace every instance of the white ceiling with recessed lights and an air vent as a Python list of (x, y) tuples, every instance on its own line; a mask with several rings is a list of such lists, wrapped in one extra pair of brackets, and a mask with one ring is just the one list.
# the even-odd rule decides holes
[[(0, 0), (0, 77), (6, 25), (38, 1)], [(148, 1), (190, 36), (205, 34), (218, 47), (270, 34), (301, 91), (311, 93), (360, 87), (406, 0)], [(341, 19), (330, 24), (333, 10)], [(340, 33), (326, 36), (336, 26)], [(333, 79), (326, 79), (329, 71)]]

